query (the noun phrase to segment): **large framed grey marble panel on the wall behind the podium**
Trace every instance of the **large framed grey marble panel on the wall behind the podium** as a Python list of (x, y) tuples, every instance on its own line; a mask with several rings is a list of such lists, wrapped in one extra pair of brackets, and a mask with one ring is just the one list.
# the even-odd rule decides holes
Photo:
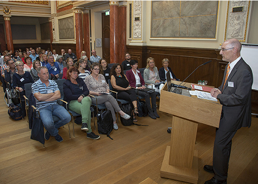
[(218, 1), (153, 1), (152, 38), (216, 38)]

